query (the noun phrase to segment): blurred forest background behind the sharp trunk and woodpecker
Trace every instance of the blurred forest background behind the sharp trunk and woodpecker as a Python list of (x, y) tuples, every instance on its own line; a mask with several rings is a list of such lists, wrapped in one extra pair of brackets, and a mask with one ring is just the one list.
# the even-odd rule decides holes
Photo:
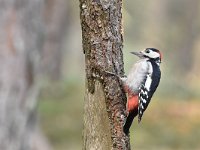
[[(123, 3), (125, 72), (137, 61), (129, 52), (163, 53), (161, 84), (142, 123), (131, 129), (132, 147), (199, 150), (200, 1)], [(0, 0), (0, 14), (0, 149), (81, 149), (79, 2)]]

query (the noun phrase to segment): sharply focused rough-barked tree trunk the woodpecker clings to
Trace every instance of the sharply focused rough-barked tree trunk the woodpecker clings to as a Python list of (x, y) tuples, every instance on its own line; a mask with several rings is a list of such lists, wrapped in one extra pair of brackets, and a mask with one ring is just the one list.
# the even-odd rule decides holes
[(80, 0), (86, 65), (84, 150), (129, 150), (123, 133), (126, 96), (115, 76), (124, 74), (122, 0)]

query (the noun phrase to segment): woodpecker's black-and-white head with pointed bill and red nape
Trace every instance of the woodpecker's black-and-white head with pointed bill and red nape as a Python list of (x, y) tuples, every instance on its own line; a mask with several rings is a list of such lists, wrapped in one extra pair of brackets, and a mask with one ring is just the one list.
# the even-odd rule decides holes
[(154, 60), (158, 63), (161, 63), (162, 60), (162, 54), (158, 49), (155, 48), (146, 48), (145, 50), (142, 50), (140, 52), (131, 52), (132, 54), (138, 56), (139, 58), (149, 58), (151, 60)]

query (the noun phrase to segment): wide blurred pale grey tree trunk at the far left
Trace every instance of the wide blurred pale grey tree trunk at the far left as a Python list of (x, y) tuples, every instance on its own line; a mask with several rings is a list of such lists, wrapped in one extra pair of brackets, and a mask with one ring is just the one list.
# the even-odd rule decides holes
[(42, 6), (42, 0), (0, 0), (1, 150), (48, 149), (36, 115)]

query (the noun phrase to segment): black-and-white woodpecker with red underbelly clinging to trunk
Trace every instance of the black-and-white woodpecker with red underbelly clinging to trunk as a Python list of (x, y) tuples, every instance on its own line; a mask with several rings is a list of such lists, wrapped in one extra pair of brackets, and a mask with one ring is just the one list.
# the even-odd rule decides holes
[[(131, 68), (128, 76), (119, 77), (125, 92), (128, 93), (127, 119), (124, 133), (129, 133), (133, 119), (138, 115), (141, 121), (144, 111), (160, 82), (161, 52), (155, 48), (146, 48), (140, 52), (131, 52), (140, 58)], [(110, 73), (110, 72), (108, 72)], [(110, 73), (115, 75), (114, 73)]]

